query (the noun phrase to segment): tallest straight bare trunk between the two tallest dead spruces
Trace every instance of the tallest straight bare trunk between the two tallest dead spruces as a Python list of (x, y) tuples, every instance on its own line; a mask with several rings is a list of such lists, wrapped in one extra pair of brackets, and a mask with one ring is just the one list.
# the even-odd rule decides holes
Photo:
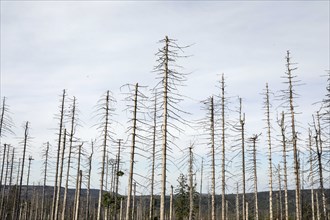
[(225, 162), (225, 79), (224, 79), (224, 75), (222, 74), (222, 80), (221, 80), (221, 114), (222, 114), (222, 118), (221, 118), (221, 122), (222, 122), (222, 166), (221, 166), (221, 180), (222, 180), (222, 186), (221, 186), (221, 198), (222, 198), (222, 202), (221, 202), (221, 219), (225, 220), (226, 219), (226, 173), (225, 173), (225, 169), (226, 169), (226, 162)]

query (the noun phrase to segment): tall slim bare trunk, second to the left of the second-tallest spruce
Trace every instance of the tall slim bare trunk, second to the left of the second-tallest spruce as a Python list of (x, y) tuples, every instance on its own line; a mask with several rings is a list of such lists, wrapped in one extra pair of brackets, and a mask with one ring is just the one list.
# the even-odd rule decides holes
[(268, 83), (266, 83), (266, 121), (267, 121), (267, 140), (268, 140), (268, 161), (269, 161), (269, 220), (273, 220), (273, 170), (272, 170), (272, 140), (271, 140), (271, 125), (270, 125), (270, 102), (269, 102), (269, 90)]

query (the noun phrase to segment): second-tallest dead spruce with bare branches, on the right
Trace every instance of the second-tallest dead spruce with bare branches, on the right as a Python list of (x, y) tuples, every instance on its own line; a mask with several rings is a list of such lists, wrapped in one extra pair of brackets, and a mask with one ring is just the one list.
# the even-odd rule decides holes
[(290, 115), (290, 127), (291, 127), (291, 140), (290, 143), (292, 143), (292, 149), (293, 149), (293, 164), (294, 164), (294, 176), (295, 176), (295, 210), (296, 210), (296, 220), (301, 219), (301, 196), (300, 196), (300, 176), (299, 176), (299, 161), (298, 161), (298, 137), (297, 137), (297, 131), (296, 131), (296, 112), (295, 108), (297, 107), (295, 105), (295, 98), (296, 93), (294, 91), (294, 87), (297, 85), (297, 80), (295, 79), (296, 76), (292, 74), (294, 70), (297, 69), (297, 67), (292, 67), (292, 65), (295, 65), (295, 63), (291, 62), (290, 52), (287, 51), (286, 55), (286, 72), (285, 72), (285, 78), (287, 81), (285, 84), (287, 84), (288, 88), (285, 90), (282, 90), (282, 99), (284, 103), (282, 104), (285, 108), (288, 109), (288, 114)]

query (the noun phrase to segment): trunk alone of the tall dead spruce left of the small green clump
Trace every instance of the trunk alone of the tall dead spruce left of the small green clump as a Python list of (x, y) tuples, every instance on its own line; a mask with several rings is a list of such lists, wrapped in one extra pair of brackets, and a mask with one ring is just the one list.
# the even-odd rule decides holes
[(98, 202), (98, 208), (97, 208), (97, 220), (101, 219), (104, 166), (105, 166), (105, 155), (107, 153), (107, 140), (108, 140), (108, 129), (109, 129), (108, 125), (109, 125), (109, 91), (107, 91), (106, 104), (105, 104), (105, 124), (104, 124), (104, 137), (103, 137), (103, 151), (102, 151), (102, 168), (101, 168), (101, 178), (100, 178), (99, 202)]

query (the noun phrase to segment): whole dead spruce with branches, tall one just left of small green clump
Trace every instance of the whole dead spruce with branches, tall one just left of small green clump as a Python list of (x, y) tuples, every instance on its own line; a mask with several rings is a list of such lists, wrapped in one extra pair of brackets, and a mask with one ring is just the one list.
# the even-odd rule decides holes
[(99, 192), (98, 207), (97, 207), (97, 220), (101, 219), (104, 172), (105, 172), (105, 164), (106, 164), (105, 156), (108, 152), (108, 145), (113, 135), (113, 132), (111, 132), (111, 122), (112, 122), (111, 118), (114, 114), (114, 107), (113, 107), (114, 103), (115, 103), (115, 99), (108, 90), (105, 96), (103, 96), (102, 99), (98, 102), (98, 106), (97, 106), (97, 116), (99, 117), (100, 120), (97, 129), (100, 131), (100, 136), (102, 140), (101, 177), (100, 177), (100, 192)]

